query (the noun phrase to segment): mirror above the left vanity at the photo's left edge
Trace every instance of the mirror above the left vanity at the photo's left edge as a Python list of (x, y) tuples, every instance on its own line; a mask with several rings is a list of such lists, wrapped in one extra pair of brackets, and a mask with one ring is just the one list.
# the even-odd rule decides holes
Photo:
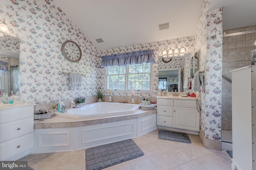
[(0, 70), (0, 92), (10, 96), (20, 91), (20, 39), (12, 36), (0, 37), (0, 61), (6, 62), (7, 71)]

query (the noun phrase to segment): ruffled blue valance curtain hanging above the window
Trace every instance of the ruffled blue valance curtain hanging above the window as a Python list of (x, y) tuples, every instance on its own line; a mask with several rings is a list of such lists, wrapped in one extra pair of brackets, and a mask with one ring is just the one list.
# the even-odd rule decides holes
[(128, 64), (141, 64), (141, 63), (156, 63), (156, 57), (154, 55), (154, 50), (142, 50), (134, 51), (123, 54), (112, 54), (107, 56), (102, 56), (101, 67), (108, 66), (122, 66)]

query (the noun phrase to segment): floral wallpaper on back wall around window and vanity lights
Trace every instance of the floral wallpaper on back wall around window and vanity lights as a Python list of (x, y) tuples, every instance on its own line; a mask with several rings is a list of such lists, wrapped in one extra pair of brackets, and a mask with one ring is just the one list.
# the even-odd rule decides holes
[[(156, 63), (153, 64), (153, 93), (136, 93), (136, 97), (156, 97), (158, 94), (158, 69), (178, 69), (184, 67), (184, 57), (177, 56), (173, 57), (172, 61), (169, 63), (164, 63), (161, 59), (162, 57), (162, 50), (169, 49), (170, 47), (174, 49), (175, 47), (185, 47), (188, 53), (194, 53), (195, 47), (195, 37), (183, 37), (183, 38), (175, 38), (171, 40), (164, 40), (160, 42), (152, 42), (152, 43), (144, 43), (144, 44), (137, 44), (137, 45), (130, 45), (126, 47), (119, 47), (113, 49), (106, 49), (100, 51), (101, 56), (105, 55), (112, 55), (117, 53), (127, 53), (133, 52), (138, 50), (146, 50), (146, 49), (153, 49), (154, 54), (156, 57)], [(160, 57), (161, 56), (161, 57)], [(100, 69), (99, 77), (104, 77), (105, 69)], [(102, 89), (104, 88), (104, 80), (100, 82)], [(106, 94), (105, 94), (106, 95)], [(129, 96), (130, 94), (127, 93), (114, 93), (116, 96)]]

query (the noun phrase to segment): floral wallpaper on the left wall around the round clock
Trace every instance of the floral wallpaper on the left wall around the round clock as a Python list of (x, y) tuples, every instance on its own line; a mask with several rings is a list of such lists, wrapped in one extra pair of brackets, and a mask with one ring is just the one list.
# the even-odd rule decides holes
[[(2, 0), (0, 18), (8, 24), (10, 36), (20, 38), (21, 99), (35, 103), (96, 95), (98, 50), (52, 0)], [(78, 63), (62, 55), (66, 40), (80, 46)], [(62, 72), (85, 75), (82, 87), (71, 88)]]

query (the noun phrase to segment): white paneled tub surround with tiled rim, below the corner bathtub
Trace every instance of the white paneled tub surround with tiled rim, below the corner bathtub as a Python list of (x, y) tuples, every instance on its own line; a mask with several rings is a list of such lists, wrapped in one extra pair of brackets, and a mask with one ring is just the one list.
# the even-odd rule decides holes
[(156, 109), (87, 119), (54, 115), (34, 123), (34, 148), (30, 153), (80, 150), (135, 138), (157, 129)]

